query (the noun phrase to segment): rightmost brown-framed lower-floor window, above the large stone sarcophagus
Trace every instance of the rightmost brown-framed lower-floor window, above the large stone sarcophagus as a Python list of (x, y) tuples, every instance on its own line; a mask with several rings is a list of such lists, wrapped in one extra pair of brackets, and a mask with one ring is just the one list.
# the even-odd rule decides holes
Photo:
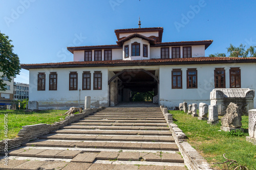
[(229, 69), (230, 88), (241, 88), (241, 69), (232, 67)]

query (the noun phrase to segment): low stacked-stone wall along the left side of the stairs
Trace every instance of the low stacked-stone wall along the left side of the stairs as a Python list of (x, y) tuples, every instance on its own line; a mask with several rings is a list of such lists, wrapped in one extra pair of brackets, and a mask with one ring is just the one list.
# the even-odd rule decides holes
[(18, 132), (18, 137), (0, 141), (0, 152), (4, 151), (6, 149), (6, 146), (8, 146), (8, 149), (19, 147), (22, 143), (36, 139), (37, 137), (45, 135), (51, 131), (58, 130), (59, 128), (67, 126), (75, 122), (76, 120), (79, 120), (102, 109), (104, 109), (104, 107), (99, 107), (98, 109), (86, 109), (83, 110), (82, 113), (67, 116), (64, 120), (54, 123), (52, 125), (37, 124), (23, 126), (23, 129), (20, 129), (20, 131)]

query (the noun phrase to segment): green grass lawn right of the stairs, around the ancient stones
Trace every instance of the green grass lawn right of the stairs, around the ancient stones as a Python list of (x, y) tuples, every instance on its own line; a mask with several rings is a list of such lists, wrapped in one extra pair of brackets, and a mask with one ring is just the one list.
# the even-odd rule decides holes
[[(256, 145), (247, 142), (248, 116), (242, 116), (242, 128), (247, 131), (242, 136), (231, 136), (220, 131), (221, 124), (211, 126), (205, 120), (187, 115), (183, 111), (169, 111), (173, 114), (174, 123), (186, 134), (187, 142), (191, 144), (215, 168), (224, 168), (223, 165), (214, 165), (214, 162), (224, 162), (226, 158), (236, 160), (239, 165), (248, 169), (256, 169)], [(219, 116), (220, 120), (221, 116)], [(221, 122), (221, 121), (220, 121)]]

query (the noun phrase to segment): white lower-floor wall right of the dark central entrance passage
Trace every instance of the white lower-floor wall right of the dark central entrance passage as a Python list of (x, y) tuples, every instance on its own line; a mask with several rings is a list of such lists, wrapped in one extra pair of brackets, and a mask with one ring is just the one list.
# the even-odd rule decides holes
[[(178, 107), (179, 103), (188, 104), (204, 102), (210, 104), (210, 92), (215, 88), (214, 70), (215, 68), (225, 68), (226, 88), (229, 88), (230, 67), (240, 67), (241, 87), (255, 90), (256, 80), (250, 79), (248, 74), (256, 72), (255, 63), (231, 63), (231, 64), (204, 64), (204, 65), (170, 65), (160, 66), (160, 105), (168, 108)], [(172, 69), (182, 69), (182, 89), (172, 89)], [(198, 88), (187, 89), (187, 68), (197, 68)], [(254, 99), (254, 108), (256, 100)]]

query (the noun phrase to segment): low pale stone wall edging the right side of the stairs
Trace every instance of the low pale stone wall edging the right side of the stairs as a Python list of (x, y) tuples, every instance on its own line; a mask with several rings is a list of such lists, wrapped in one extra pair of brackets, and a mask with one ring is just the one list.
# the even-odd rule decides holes
[(173, 120), (168, 119), (170, 117), (172, 117), (173, 119), (173, 115), (168, 113), (167, 108), (164, 108), (163, 106), (160, 106), (160, 108), (170, 128), (170, 131), (173, 134), (175, 143), (179, 148), (179, 151), (184, 159), (184, 163), (187, 168), (193, 170), (211, 169), (207, 161), (194, 148), (192, 148), (188, 142), (186, 142), (186, 135), (182, 132), (182, 130), (173, 123)]

